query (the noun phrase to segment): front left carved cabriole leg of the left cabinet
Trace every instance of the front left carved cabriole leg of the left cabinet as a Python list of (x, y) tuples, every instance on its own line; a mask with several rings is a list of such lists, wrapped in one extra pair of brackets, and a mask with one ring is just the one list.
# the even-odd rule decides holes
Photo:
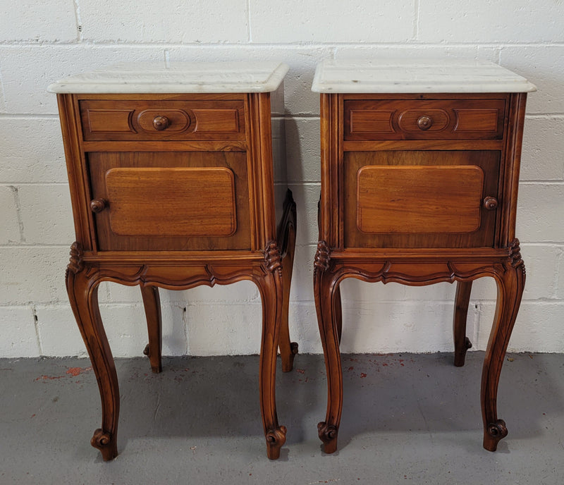
[(102, 452), (104, 460), (111, 460), (118, 454), (119, 388), (114, 357), (98, 307), (99, 282), (97, 270), (82, 263), (80, 246), (74, 243), (66, 271), (66, 289), (102, 399), (102, 427), (94, 431), (91, 443)]

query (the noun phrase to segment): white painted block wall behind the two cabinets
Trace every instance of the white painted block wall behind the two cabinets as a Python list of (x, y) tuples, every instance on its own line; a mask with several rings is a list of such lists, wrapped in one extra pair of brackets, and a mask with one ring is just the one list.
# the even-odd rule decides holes
[[(312, 291), (319, 199), (324, 58), (453, 56), (525, 75), (529, 95), (517, 236), (527, 285), (510, 350), (564, 352), (564, 3), (556, 0), (0, 0), (0, 357), (85, 355), (64, 271), (73, 223), (56, 99), (58, 78), (123, 61), (285, 61), (288, 180), (298, 204), (290, 331), (321, 352)], [(343, 283), (345, 352), (452, 350), (455, 286)], [(484, 349), (491, 278), (474, 283), (468, 333)], [(139, 288), (103, 283), (99, 301), (116, 356), (147, 340)], [(257, 288), (161, 290), (164, 353), (259, 350)]]

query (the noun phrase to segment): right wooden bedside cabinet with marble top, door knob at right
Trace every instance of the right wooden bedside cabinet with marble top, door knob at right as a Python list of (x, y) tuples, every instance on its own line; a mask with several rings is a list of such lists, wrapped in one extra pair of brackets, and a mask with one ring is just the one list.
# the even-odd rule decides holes
[(336, 450), (343, 406), (339, 283), (456, 281), (461, 366), (482, 276), (498, 287), (481, 395), (484, 448), (496, 450), (507, 435), (498, 381), (525, 284), (515, 211), (525, 100), (536, 88), (490, 63), (326, 61), (312, 90), (321, 93), (314, 295), (329, 383), (325, 452)]

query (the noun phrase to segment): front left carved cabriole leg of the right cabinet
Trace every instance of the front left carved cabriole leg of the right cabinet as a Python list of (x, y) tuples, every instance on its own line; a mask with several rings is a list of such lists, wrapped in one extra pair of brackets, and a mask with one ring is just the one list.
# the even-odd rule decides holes
[(343, 410), (343, 370), (339, 351), (340, 302), (336, 276), (331, 272), (329, 247), (324, 241), (317, 245), (314, 263), (314, 296), (317, 310), (317, 323), (323, 345), (325, 368), (327, 372), (327, 412), (325, 421), (317, 426), (319, 438), (324, 442), (325, 453), (337, 449), (337, 430)]

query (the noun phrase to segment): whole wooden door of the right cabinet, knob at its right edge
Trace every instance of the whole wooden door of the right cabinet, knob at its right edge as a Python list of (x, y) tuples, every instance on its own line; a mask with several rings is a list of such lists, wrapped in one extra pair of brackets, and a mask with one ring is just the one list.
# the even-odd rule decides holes
[(344, 246), (491, 247), (499, 161), (486, 150), (345, 152)]

